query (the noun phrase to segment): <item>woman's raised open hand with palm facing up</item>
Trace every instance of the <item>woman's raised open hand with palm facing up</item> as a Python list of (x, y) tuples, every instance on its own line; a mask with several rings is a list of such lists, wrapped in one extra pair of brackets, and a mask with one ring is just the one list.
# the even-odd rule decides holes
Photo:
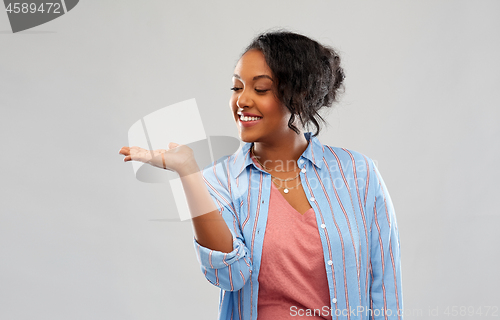
[(140, 161), (152, 166), (176, 171), (185, 175), (198, 170), (194, 153), (191, 148), (185, 145), (170, 142), (168, 150), (146, 150), (140, 147), (123, 147), (119, 151), (125, 158), (123, 161)]

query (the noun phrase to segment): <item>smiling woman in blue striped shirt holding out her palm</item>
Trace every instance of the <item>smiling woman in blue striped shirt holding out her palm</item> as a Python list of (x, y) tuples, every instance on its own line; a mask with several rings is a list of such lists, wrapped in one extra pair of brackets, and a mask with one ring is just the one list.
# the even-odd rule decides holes
[(201, 269), (221, 288), (220, 319), (402, 319), (385, 184), (371, 159), (316, 138), (318, 111), (343, 79), (333, 49), (261, 34), (233, 75), (229, 103), (246, 142), (235, 154), (202, 176), (186, 146), (120, 150), (182, 177)]

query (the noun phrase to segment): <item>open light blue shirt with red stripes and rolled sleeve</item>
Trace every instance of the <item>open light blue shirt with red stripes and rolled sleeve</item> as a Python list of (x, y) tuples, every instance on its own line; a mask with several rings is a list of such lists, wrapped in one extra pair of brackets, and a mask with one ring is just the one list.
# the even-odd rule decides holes
[[(365, 155), (325, 146), (310, 132), (304, 135), (309, 145), (297, 165), (306, 169), (300, 178), (316, 214), (330, 289), (330, 306), (321, 314), (348, 320), (403, 319), (399, 234), (382, 177)], [(221, 289), (221, 320), (257, 319), (272, 181), (253, 163), (251, 146), (244, 144), (203, 171), (233, 236), (229, 253), (194, 241), (202, 272)]]

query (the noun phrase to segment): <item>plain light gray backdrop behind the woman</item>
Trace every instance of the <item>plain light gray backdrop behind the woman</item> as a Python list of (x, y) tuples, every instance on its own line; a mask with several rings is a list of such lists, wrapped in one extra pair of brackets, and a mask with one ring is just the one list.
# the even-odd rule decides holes
[(81, 1), (12, 34), (0, 12), (0, 318), (216, 318), (190, 223), (167, 221), (168, 184), (136, 180), (118, 150), (135, 121), (190, 98), (208, 135), (237, 137), (233, 67), (273, 27), (342, 55), (346, 93), (320, 140), (378, 161), (406, 319), (451, 306), (490, 318), (499, 13), (499, 1)]

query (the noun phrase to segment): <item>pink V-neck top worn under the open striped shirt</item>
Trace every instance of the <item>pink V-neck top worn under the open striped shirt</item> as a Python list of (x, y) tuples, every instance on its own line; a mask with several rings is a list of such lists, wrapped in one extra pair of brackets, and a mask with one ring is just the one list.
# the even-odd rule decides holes
[(314, 314), (307, 319), (332, 319), (314, 210), (300, 214), (272, 185), (259, 271), (258, 319), (296, 320)]

